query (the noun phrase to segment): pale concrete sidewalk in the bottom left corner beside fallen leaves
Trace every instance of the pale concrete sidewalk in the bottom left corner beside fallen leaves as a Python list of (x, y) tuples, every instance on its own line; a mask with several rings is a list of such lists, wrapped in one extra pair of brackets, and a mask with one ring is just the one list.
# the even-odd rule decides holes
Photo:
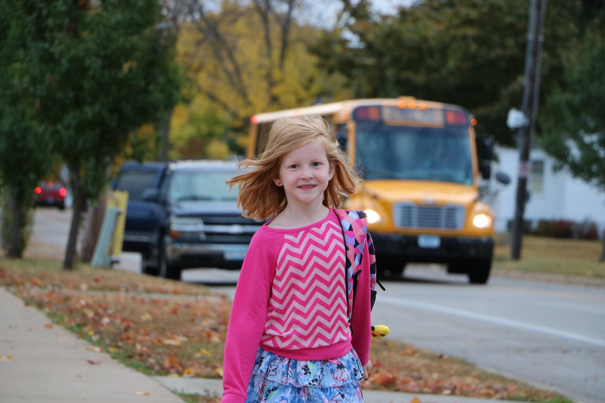
[(0, 287), (0, 402), (183, 403), (153, 379), (87, 350), (86, 341), (48, 323)]

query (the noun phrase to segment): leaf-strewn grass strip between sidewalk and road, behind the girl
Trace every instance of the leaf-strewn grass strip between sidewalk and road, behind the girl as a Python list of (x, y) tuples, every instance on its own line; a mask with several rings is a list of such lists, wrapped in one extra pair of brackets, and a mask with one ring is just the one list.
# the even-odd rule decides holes
[[(162, 298), (116, 292), (87, 294), (77, 284), (89, 278), (94, 282), (94, 277), (100, 276), (98, 272), (110, 271), (91, 270), (92, 274), (73, 271), (59, 275), (54, 269), (48, 269), (47, 263), (36, 266), (34, 261), (14, 262), (0, 262), (0, 285), (13, 290), (26, 303), (42, 309), (54, 323), (89, 341), (91, 349), (108, 352), (146, 375), (201, 378), (221, 378), (223, 375), (224, 340), (231, 310), (231, 301), (227, 298), (200, 295), (192, 300), (172, 292)], [(138, 278), (146, 284), (149, 282), (147, 277), (138, 275), (131, 281)], [(153, 280), (153, 286), (145, 285), (140, 289), (153, 289), (154, 292), (178, 289), (170, 280)], [(68, 287), (66, 283), (75, 286)], [(109, 280), (95, 283), (114, 287)], [(203, 290), (200, 294), (207, 292), (200, 289)], [(540, 390), (485, 372), (460, 359), (416, 349), (398, 341), (372, 340), (370, 356), (373, 369), (370, 380), (363, 382), (364, 388), (571, 403), (555, 392)], [(212, 401), (195, 395), (188, 395), (186, 399)]]

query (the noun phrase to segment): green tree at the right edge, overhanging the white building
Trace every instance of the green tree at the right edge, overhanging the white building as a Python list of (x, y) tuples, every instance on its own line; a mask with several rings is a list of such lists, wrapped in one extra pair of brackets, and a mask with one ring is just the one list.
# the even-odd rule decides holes
[[(577, 178), (605, 190), (605, 30), (593, 24), (546, 100), (541, 146)], [(604, 234), (605, 235), (605, 234)], [(605, 236), (599, 258), (605, 261)]]

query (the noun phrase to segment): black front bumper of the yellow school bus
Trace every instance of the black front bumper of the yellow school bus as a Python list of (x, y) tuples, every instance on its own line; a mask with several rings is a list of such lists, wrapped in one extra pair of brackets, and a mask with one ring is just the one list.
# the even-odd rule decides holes
[[(439, 245), (419, 246), (419, 236), (371, 234), (377, 256), (394, 257), (404, 262), (455, 263), (463, 260), (491, 260), (491, 237), (439, 237)], [(422, 236), (422, 235), (421, 235)], [(421, 242), (422, 243), (422, 242)]]

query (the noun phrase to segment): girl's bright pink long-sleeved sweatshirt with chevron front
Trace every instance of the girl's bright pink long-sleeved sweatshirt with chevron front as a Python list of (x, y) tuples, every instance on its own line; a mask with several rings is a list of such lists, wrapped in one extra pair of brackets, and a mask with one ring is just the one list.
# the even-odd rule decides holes
[[(307, 227), (263, 225), (252, 237), (229, 318), (221, 403), (243, 403), (258, 347), (286, 358), (369, 360), (370, 265), (362, 260), (347, 322), (345, 251), (338, 216)], [(368, 256), (367, 245), (364, 256)]]

